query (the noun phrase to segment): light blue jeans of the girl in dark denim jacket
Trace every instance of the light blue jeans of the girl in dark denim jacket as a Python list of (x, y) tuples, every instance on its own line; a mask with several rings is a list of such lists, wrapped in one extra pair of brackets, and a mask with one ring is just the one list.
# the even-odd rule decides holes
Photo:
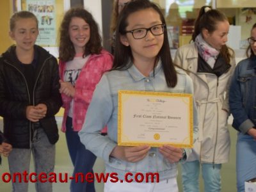
[(256, 141), (239, 132), (236, 143), (237, 191), (244, 191), (244, 182), (256, 177)]

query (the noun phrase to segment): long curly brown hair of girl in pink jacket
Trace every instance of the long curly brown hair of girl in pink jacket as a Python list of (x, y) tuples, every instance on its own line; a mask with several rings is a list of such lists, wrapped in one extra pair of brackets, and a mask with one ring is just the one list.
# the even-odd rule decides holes
[(70, 10), (65, 13), (60, 26), (59, 52), (61, 61), (73, 60), (74, 56), (76, 55), (74, 45), (72, 44), (68, 33), (69, 24), (73, 17), (84, 19), (90, 26), (90, 40), (84, 47), (83, 56), (88, 54), (99, 54), (102, 50), (99, 28), (93, 19), (92, 14), (84, 10), (84, 8), (70, 8)]

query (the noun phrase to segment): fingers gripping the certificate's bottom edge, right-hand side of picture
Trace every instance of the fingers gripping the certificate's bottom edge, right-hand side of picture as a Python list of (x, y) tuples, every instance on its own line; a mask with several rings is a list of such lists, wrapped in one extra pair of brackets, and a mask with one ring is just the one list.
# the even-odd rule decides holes
[(161, 152), (170, 163), (175, 163), (182, 158), (183, 148), (164, 145), (163, 147), (159, 147), (159, 152)]

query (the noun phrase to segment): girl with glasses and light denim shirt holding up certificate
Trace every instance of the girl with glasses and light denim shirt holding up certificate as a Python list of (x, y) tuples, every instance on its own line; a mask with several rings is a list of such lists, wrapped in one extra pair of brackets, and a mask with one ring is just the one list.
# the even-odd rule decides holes
[[(177, 163), (190, 149), (162, 147), (124, 147), (117, 145), (118, 90), (193, 93), (190, 77), (172, 63), (166, 23), (159, 7), (148, 0), (135, 0), (124, 6), (116, 27), (113, 68), (102, 76), (93, 93), (86, 120), (79, 132), (81, 142), (104, 159), (106, 173), (115, 173), (104, 191), (179, 191)], [(195, 106), (195, 105), (194, 105)], [(194, 132), (197, 116), (194, 108)], [(100, 135), (108, 125), (108, 137)], [(194, 135), (194, 139), (196, 136)], [(127, 173), (159, 174), (147, 182), (131, 182)], [(114, 180), (113, 180), (114, 179)], [(129, 179), (129, 181), (127, 180)]]

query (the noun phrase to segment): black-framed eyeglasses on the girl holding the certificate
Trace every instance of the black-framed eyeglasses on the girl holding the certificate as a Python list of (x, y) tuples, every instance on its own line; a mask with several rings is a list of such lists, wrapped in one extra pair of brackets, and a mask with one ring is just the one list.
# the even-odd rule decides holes
[(157, 24), (150, 28), (138, 28), (131, 31), (125, 31), (125, 33), (131, 33), (133, 38), (140, 39), (147, 36), (148, 31), (150, 31), (153, 35), (162, 35), (164, 33), (164, 27), (165, 24)]

